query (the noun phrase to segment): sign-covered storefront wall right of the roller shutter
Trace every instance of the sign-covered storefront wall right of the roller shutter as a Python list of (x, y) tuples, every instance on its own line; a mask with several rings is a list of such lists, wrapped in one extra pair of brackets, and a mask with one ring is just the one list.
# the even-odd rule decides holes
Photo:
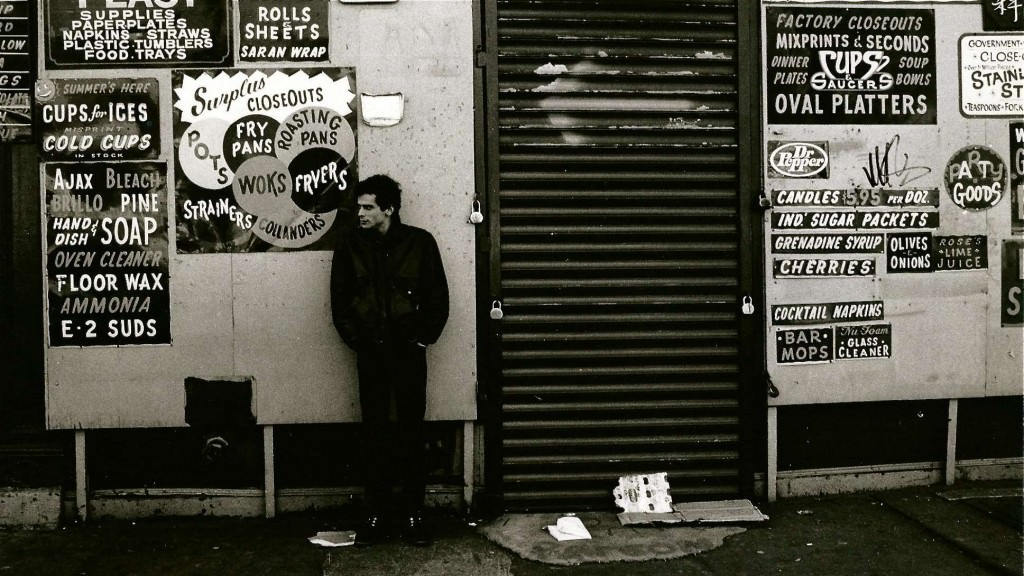
[(828, 465), (784, 417), (936, 438), (895, 459), (951, 482), (957, 401), (1019, 404), (1024, 14), (997, 5), (762, 3), (772, 495)]

